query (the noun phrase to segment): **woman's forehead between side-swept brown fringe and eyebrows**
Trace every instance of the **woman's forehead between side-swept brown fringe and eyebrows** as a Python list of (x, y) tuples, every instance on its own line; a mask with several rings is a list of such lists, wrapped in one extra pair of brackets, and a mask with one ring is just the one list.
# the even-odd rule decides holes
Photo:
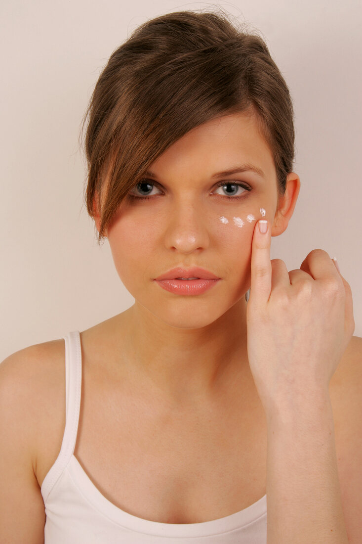
[(255, 114), (235, 113), (207, 121), (170, 146), (150, 170), (155, 175), (199, 172), (213, 175), (233, 164), (252, 164), (275, 176), (272, 151), (260, 130)]

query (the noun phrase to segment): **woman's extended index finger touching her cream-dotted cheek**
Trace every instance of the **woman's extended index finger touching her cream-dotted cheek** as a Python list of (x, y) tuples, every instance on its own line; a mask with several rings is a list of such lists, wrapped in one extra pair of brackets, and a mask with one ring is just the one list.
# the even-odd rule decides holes
[[(265, 233), (260, 232), (259, 225), (267, 227)], [(269, 221), (260, 220), (255, 224), (252, 257), (250, 299), (257, 304), (269, 300), (271, 292), (272, 265), (270, 261), (271, 229)]]

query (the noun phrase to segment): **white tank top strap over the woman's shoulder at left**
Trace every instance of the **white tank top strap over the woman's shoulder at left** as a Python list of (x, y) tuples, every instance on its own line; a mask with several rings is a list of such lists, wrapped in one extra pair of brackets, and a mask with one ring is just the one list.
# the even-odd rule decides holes
[(41, 485), (44, 500), (70, 461), (77, 441), (82, 393), (80, 333), (79, 331), (68, 332), (63, 339), (65, 341), (65, 429), (59, 455)]

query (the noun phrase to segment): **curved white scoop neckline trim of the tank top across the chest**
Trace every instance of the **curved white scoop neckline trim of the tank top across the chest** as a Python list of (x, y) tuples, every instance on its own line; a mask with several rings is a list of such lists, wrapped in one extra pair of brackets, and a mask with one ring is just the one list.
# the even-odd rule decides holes
[(110, 500), (99, 491), (96, 485), (93, 484), (74, 454), (72, 454), (70, 462), (67, 465), (67, 470), (74, 485), (77, 486), (77, 489), (82, 493), (84, 499), (89, 502), (95, 510), (114, 523), (138, 533), (168, 537), (213, 536), (246, 527), (248, 524), (257, 521), (261, 516), (266, 515), (265, 494), (255, 503), (247, 506), (244, 510), (218, 518), (217, 520), (201, 523), (161, 523), (145, 520), (144, 518), (129, 514), (110, 502)]

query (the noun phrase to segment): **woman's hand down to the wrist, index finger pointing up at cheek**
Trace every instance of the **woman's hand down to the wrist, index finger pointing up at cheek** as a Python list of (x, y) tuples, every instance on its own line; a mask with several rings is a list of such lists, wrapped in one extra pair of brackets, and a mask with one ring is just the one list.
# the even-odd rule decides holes
[(298, 270), (270, 260), (271, 228), (255, 224), (247, 351), (265, 411), (308, 395), (328, 394), (353, 336), (352, 292), (326, 251), (314, 249)]

